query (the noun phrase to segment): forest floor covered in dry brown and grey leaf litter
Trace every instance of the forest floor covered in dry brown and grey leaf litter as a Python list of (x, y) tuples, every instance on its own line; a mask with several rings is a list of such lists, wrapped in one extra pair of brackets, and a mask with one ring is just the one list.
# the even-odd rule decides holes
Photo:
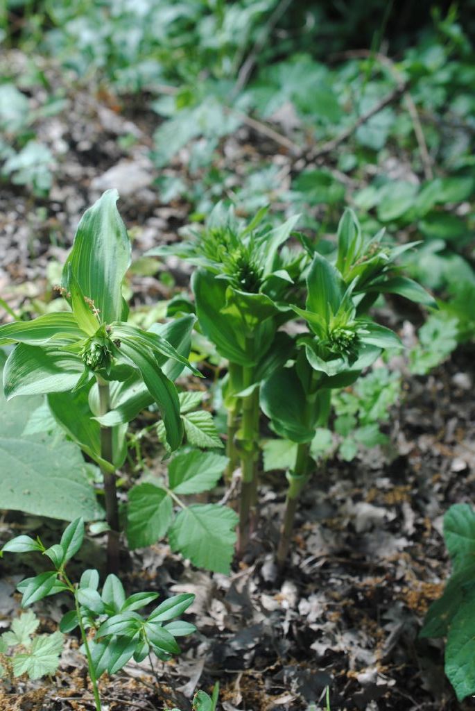
[[(20, 186), (3, 186), (0, 193), (0, 293), (12, 309), (27, 314), (35, 301), (50, 297), (55, 262), (64, 260), (80, 215), (104, 189), (119, 189), (136, 257), (176, 239), (190, 212), (185, 203), (160, 203), (153, 186), (148, 151), (156, 117), (132, 105), (119, 114), (107, 97), (99, 101), (82, 92), (70, 100), (67, 112), (45, 119), (38, 129), (62, 154), (49, 198), (32, 198)], [(117, 139), (130, 134), (136, 142), (124, 151)], [(267, 156), (285, 170), (285, 151), (251, 129), (240, 129), (226, 142), (223, 155), (232, 155), (236, 165)], [(179, 175), (185, 164), (182, 159), (167, 172)], [(175, 285), (185, 287), (186, 267), (169, 262), (167, 268)], [(132, 306), (151, 306), (173, 293), (156, 272), (139, 268), (131, 272), (131, 290)], [(410, 338), (405, 316), (398, 314), (398, 325)], [(262, 477), (251, 546), (230, 577), (196, 570), (165, 543), (134, 552), (126, 587), (194, 592), (190, 611), (198, 632), (177, 660), (157, 663), (160, 683), (148, 662), (129, 663), (110, 680), (104, 676), (104, 709), (158, 711), (175, 705), (190, 711), (194, 690), (209, 691), (217, 680), (224, 711), (299, 711), (313, 708), (312, 702), (323, 708), (327, 685), (332, 711), (469, 709), (471, 701), (459, 704), (444, 676), (442, 641), (417, 634), (449, 571), (442, 517), (452, 503), (471, 501), (473, 355), (456, 351), (427, 378), (404, 375), (403, 398), (386, 428), (391, 445), (350, 463), (330, 459), (315, 473), (302, 496), (282, 575), (273, 565), (285, 498), (285, 478), (277, 473)], [(154, 444), (144, 447), (152, 468), (161, 456)], [(124, 475), (132, 476), (127, 467)], [(60, 522), (6, 512), (0, 538), (41, 530), (45, 540), (53, 540), (61, 528)], [(84, 547), (77, 570), (87, 560), (102, 560), (99, 544), (94, 539)], [(1, 562), (0, 628), (18, 613), (14, 589), (29, 574), (28, 563)], [(41, 629), (50, 631), (65, 607), (60, 597), (47, 598), (36, 611)], [(77, 640), (68, 641), (54, 679), (0, 687), (0, 707), (93, 709)]]

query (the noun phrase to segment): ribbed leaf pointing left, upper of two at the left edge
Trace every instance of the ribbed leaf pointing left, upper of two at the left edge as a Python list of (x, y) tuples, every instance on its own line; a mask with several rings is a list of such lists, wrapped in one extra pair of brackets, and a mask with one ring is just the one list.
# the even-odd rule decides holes
[(77, 325), (74, 314), (68, 311), (58, 311), (55, 314), (44, 314), (33, 321), (14, 321), (13, 324), (0, 326), (0, 346), (9, 343), (28, 343), (32, 346), (44, 346), (54, 336), (76, 340), (84, 338), (85, 334)]

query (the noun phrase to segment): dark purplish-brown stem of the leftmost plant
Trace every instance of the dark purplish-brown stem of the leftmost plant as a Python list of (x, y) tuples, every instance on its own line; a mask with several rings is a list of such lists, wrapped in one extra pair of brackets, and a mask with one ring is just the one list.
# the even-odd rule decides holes
[[(99, 412), (106, 415), (111, 409), (109, 383), (97, 378), (99, 386)], [(101, 456), (102, 459), (113, 461), (112, 429), (101, 425)], [(106, 503), (106, 519), (109, 525), (107, 534), (107, 570), (109, 573), (119, 572), (119, 504), (117, 501), (116, 475), (101, 467), (104, 478), (104, 498)]]

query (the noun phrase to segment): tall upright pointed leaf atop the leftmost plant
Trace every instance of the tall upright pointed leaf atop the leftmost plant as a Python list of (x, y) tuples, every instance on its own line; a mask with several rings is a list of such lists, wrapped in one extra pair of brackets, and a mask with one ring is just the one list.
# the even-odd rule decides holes
[(116, 190), (108, 190), (82, 215), (63, 272), (69, 289), (70, 264), (81, 293), (94, 301), (105, 324), (121, 321), (126, 314), (122, 280), (130, 264), (131, 243), (116, 208), (118, 198)]

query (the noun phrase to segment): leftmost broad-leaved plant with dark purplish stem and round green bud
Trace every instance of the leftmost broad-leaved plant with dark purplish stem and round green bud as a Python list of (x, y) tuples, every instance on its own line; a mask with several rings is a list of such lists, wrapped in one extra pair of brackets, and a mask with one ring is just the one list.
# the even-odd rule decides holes
[[(48, 394), (55, 418), (101, 466), (111, 569), (117, 567), (119, 530), (114, 471), (124, 461), (129, 420), (111, 426), (94, 417), (120, 407), (134, 390), (140, 404), (143, 396), (156, 403), (170, 449), (176, 449), (183, 432), (180, 402), (165, 365), (169, 371), (176, 366), (174, 377), (185, 366), (199, 374), (159, 329), (126, 323), (129, 309), (121, 289), (131, 243), (118, 198), (117, 191), (107, 191), (80, 220), (62, 277), (70, 311), (0, 326), (0, 345), (18, 344), (4, 368), (6, 397)], [(186, 343), (192, 326), (192, 316), (185, 318), (167, 334), (177, 346)]]

